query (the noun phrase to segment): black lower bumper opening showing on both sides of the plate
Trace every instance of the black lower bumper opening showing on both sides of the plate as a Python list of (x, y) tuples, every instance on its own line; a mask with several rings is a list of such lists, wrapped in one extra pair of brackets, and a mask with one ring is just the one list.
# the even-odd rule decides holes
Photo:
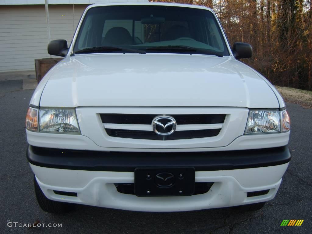
[[(193, 195), (207, 193), (214, 182), (197, 182), (195, 183)], [(134, 183), (115, 183), (119, 193), (134, 195)]]

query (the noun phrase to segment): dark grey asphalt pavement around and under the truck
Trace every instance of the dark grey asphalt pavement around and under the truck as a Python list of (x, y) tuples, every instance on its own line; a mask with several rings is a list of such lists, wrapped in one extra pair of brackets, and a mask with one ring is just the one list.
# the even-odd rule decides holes
[[(3, 82), (7, 82), (4, 84)], [(18, 81), (0, 84), (0, 233), (311, 233), (311, 109), (287, 104), (292, 120), (292, 160), (274, 200), (257, 212), (231, 208), (148, 213), (77, 206), (55, 216), (41, 211), (28, 166), (24, 119), (33, 90)], [(59, 223), (62, 227), (8, 227), (7, 222)], [(304, 219), (301, 227), (280, 227), (283, 219)], [(10, 220), (10, 221), (8, 221)]]

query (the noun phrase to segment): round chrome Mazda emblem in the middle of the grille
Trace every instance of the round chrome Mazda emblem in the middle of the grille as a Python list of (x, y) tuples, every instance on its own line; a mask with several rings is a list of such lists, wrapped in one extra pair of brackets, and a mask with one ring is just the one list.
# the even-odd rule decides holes
[(168, 136), (174, 133), (177, 123), (172, 116), (158, 115), (152, 122), (153, 130), (161, 136)]

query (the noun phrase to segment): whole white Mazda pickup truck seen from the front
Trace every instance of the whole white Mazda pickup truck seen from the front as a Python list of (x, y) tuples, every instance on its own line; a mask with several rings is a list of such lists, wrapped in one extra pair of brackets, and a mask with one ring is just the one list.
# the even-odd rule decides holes
[(90, 5), (71, 45), (48, 52), (64, 59), (26, 117), (44, 211), (256, 210), (275, 197), (291, 158), (285, 103), (211, 9)]

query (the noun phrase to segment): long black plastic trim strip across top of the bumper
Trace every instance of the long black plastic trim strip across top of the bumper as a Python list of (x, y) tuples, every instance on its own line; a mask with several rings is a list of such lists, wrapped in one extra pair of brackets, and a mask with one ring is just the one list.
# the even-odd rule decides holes
[(137, 167), (194, 167), (196, 171), (269, 167), (288, 163), (288, 146), (214, 152), (136, 153), (51, 149), (29, 145), (28, 162), (46, 168), (134, 172)]

